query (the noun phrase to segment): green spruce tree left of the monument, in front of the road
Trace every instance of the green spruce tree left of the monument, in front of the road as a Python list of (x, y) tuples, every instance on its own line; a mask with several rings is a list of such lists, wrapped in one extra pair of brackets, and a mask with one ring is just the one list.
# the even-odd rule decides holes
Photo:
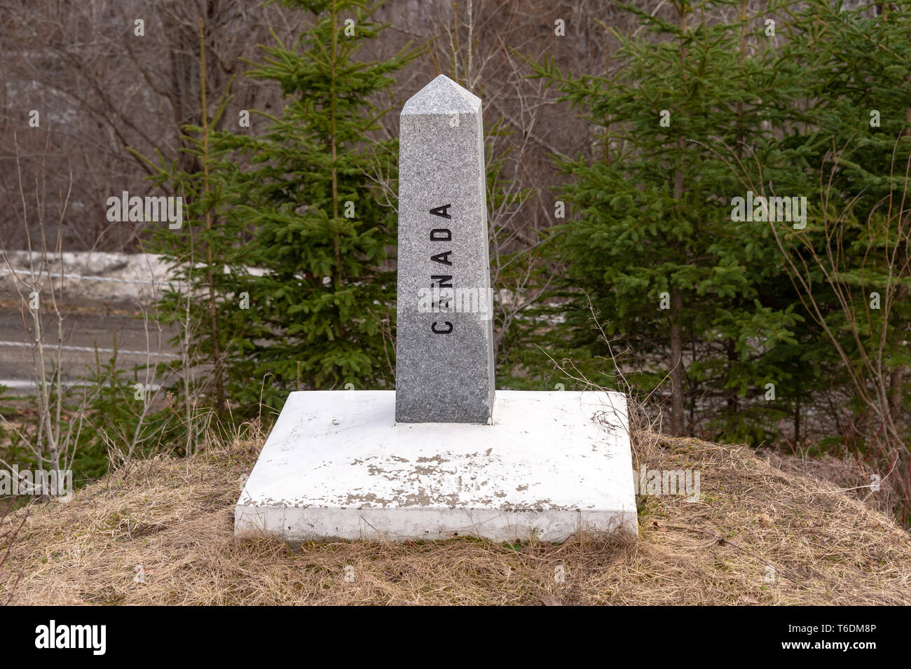
[[(396, 215), (384, 193), (396, 190), (397, 141), (380, 137), (377, 101), (416, 54), (357, 59), (385, 27), (372, 19), (377, 5), (282, 4), (308, 25), (292, 45), (262, 46), (246, 73), (281, 86), (281, 113), (208, 133), (208, 196), (195, 194), (193, 212), (223, 242), (218, 299), (194, 313), (194, 333), (210, 353), (218, 346), (225, 396), (241, 413), (261, 399), (280, 408), (289, 390), (389, 388), (394, 375)], [(189, 180), (199, 190), (203, 179)]]

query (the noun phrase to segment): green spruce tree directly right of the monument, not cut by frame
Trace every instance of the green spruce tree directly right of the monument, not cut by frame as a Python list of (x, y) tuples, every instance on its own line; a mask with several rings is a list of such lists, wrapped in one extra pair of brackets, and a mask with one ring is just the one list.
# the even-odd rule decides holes
[[(762, 441), (788, 413), (765, 401), (765, 389), (780, 384), (777, 347), (796, 344), (800, 319), (767, 225), (732, 220), (732, 198), (745, 193), (729, 163), (746, 146), (752, 162), (775, 164), (763, 121), (774, 121), (793, 81), (772, 66), (763, 22), (741, 2), (673, 6), (676, 23), (625, 6), (650, 35), (615, 33), (617, 76), (537, 66), (609, 137), (597, 158), (560, 161), (573, 177), (564, 198), (574, 218), (561, 245), (564, 286), (575, 296), (571, 346), (589, 361), (589, 379), (614, 385), (615, 370), (595, 367), (609, 350), (591, 328), (586, 298), (574, 290), (581, 289), (606, 334), (634, 353), (634, 385), (669, 389), (671, 431), (692, 431), (691, 416), (716, 406), (703, 434)], [(725, 6), (740, 12), (738, 21), (705, 22)], [(759, 46), (747, 49), (751, 37)]]

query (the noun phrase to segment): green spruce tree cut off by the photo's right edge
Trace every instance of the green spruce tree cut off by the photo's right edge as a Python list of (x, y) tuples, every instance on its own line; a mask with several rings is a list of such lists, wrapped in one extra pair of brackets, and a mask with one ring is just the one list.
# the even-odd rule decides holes
[[(791, 178), (804, 179), (820, 211), (805, 232), (782, 241), (798, 258), (798, 289), (813, 291), (817, 306), (807, 300), (807, 310), (820, 340), (844, 351), (830, 351), (830, 369), (855, 397), (852, 414), (876, 407), (860, 441), (886, 433), (902, 441), (911, 366), (904, 343), (911, 321), (911, 8), (879, 9), (814, 0), (785, 26), (781, 59), (801, 74), (805, 108), (803, 132), (787, 137), (782, 152), (801, 157), (806, 168)], [(804, 266), (799, 258), (813, 259)], [(852, 430), (865, 422), (851, 421)]]

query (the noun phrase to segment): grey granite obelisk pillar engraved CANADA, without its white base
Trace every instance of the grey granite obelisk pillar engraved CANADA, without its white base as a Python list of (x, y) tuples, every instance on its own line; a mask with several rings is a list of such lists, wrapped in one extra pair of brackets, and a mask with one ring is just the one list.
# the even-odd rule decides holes
[(489, 423), (494, 338), (481, 100), (447, 76), (402, 109), (398, 236), (395, 421)]

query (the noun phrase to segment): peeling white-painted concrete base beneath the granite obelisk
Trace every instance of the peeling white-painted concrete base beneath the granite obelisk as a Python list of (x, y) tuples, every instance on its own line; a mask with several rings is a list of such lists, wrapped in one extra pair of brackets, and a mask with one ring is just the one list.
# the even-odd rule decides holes
[(235, 535), (638, 535), (619, 393), (497, 390), (492, 425), (394, 416), (393, 390), (292, 392), (235, 507)]

